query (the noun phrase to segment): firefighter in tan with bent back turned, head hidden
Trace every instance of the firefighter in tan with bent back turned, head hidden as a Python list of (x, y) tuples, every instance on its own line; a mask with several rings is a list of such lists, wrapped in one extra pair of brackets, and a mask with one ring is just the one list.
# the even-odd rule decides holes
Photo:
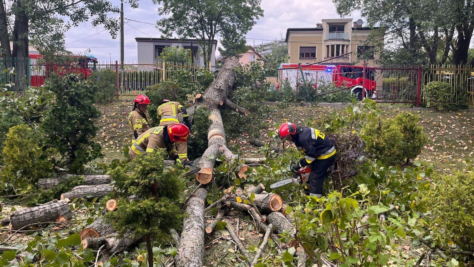
[[(160, 126), (166, 126), (171, 124), (179, 123), (178, 114), (182, 114), (182, 119), (184, 124), (191, 129), (191, 123), (189, 121), (188, 113), (184, 106), (182, 106), (179, 102), (176, 101), (169, 101), (168, 99), (164, 99), (163, 104), (161, 104), (156, 113), (158, 114), (158, 120), (160, 120)], [(175, 143), (176, 150), (178, 151), (178, 157), (183, 162), (188, 162), (188, 146), (185, 142), (176, 142)], [(173, 151), (172, 151), (173, 152)]]

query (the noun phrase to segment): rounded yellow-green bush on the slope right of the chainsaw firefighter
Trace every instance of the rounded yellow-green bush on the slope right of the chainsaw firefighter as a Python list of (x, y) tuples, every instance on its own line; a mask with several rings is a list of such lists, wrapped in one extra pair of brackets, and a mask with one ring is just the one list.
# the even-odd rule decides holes
[(361, 134), (367, 153), (389, 165), (410, 162), (428, 142), (423, 127), (419, 126), (419, 117), (410, 113), (398, 114), (393, 119), (371, 118)]

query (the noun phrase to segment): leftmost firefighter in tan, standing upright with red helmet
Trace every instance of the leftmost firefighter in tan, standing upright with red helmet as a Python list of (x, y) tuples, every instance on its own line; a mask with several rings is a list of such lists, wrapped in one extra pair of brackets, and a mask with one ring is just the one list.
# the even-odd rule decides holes
[(133, 103), (133, 109), (128, 114), (128, 126), (132, 131), (132, 144), (137, 140), (138, 135), (150, 129), (146, 119), (146, 108), (150, 105), (150, 99), (146, 95), (137, 95)]

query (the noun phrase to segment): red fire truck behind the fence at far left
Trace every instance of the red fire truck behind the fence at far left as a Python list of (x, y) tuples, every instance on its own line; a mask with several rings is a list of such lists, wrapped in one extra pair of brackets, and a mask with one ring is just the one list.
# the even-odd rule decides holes
[(92, 55), (87, 56), (73, 56), (74, 61), (78, 64), (42, 64), (38, 63), (38, 58), (43, 58), (39, 54), (30, 54), (31, 64), (31, 86), (41, 86), (45, 83), (47, 76), (55, 72), (59, 75), (68, 73), (82, 73), (87, 78), (92, 74), (92, 71), (97, 68), (97, 58)]

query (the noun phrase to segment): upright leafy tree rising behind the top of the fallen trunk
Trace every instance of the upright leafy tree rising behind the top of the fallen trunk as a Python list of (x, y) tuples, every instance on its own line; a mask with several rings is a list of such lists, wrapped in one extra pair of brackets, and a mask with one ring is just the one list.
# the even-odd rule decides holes
[(212, 45), (216, 35), (222, 39), (239, 40), (263, 16), (261, 0), (153, 0), (159, 4), (158, 29), (164, 36), (174, 34), (182, 38), (196, 38), (209, 67)]

